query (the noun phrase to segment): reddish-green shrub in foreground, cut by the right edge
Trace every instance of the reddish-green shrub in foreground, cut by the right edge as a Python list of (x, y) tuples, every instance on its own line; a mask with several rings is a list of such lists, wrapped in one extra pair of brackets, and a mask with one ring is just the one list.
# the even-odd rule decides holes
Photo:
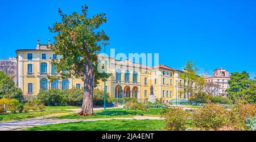
[(246, 118), (256, 116), (255, 104), (236, 102), (236, 104), (231, 105), (229, 109), (229, 126), (236, 131), (250, 130), (250, 127), (246, 125)]

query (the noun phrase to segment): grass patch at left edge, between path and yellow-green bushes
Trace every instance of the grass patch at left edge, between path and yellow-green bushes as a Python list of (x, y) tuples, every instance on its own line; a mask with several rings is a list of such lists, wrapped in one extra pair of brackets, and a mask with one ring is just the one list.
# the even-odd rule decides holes
[(49, 114), (58, 114), (58, 113), (69, 113), (72, 111), (69, 110), (54, 110), (54, 111), (36, 111), (36, 112), (29, 112), (29, 113), (17, 113), (17, 114), (5, 114), (0, 115), (0, 122), (5, 121), (19, 121), (22, 119), (29, 119), (40, 117)]

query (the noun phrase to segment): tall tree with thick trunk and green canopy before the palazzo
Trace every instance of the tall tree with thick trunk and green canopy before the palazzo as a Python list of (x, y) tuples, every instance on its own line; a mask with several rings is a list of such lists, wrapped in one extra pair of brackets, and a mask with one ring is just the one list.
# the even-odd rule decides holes
[(99, 79), (106, 79), (108, 74), (98, 72), (98, 53), (101, 42), (108, 41), (100, 25), (106, 23), (105, 14), (87, 17), (88, 6), (82, 6), (82, 14), (73, 12), (63, 14), (59, 9), (61, 21), (53, 24), (49, 31), (56, 33), (55, 41), (50, 48), (61, 55), (53, 59), (52, 64), (62, 78), (82, 78), (84, 80), (84, 100), (80, 115), (93, 115), (93, 89)]

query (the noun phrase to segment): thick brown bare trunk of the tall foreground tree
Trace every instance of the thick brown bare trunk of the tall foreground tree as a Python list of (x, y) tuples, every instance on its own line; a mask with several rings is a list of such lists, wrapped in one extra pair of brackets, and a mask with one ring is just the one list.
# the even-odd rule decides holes
[(93, 115), (94, 77), (93, 67), (89, 59), (84, 68), (84, 99), (82, 101), (82, 110), (79, 113), (81, 116)]

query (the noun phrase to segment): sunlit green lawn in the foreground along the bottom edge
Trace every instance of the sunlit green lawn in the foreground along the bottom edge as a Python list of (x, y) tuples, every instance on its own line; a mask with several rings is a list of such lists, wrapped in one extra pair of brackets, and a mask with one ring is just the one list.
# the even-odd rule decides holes
[(72, 122), (27, 128), (24, 131), (163, 131), (161, 120), (110, 120)]

